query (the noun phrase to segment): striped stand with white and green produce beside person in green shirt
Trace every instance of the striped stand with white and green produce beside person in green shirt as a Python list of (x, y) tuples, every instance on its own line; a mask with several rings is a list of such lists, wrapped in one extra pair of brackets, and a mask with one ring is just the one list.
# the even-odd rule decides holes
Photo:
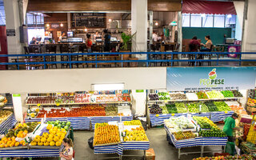
[[(204, 151), (204, 146), (226, 146), (226, 135), (206, 117), (170, 118), (165, 120), (164, 127), (167, 141), (178, 149), (178, 159), (182, 154), (200, 153), (202, 157), (203, 153), (208, 152)], [(193, 153), (181, 152), (182, 148), (191, 146), (201, 146), (201, 150)]]

